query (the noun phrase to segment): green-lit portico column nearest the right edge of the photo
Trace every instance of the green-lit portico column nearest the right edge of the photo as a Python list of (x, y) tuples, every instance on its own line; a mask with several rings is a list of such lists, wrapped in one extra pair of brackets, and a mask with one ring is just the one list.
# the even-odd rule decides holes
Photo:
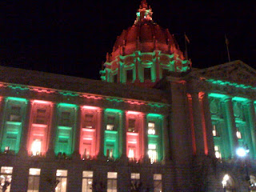
[(251, 150), (250, 157), (256, 158), (256, 131), (255, 131), (255, 111), (254, 111), (254, 102), (250, 101), (246, 103), (248, 111), (248, 133), (251, 140)]

